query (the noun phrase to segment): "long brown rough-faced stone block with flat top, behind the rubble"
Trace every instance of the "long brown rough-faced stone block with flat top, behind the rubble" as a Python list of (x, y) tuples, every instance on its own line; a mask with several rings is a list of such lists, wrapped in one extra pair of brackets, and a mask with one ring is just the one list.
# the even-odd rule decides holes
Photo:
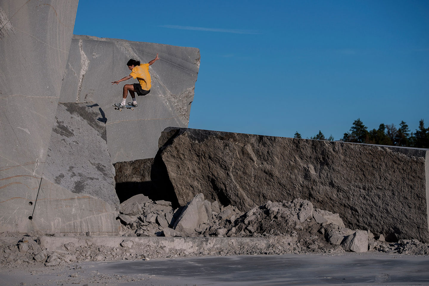
[(160, 145), (152, 181), (179, 205), (198, 193), (240, 210), (300, 197), (348, 228), (429, 241), (426, 149), (185, 128), (166, 129)]

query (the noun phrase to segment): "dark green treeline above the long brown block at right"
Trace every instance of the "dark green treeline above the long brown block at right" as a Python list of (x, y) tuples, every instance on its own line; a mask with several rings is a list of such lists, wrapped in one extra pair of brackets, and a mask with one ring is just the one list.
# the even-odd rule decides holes
[[(294, 138), (302, 138), (301, 134), (296, 131)], [(307, 138), (308, 139), (308, 138)], [(325, 135), (319, 130), (319, 133), (310, 137), (315, 140), (328, 140), (334, 141), (334, 137), (330, 135), (325, 138)], [(354, 120), (349, 132), (344, 133), (340, 141), (353, 142), (353, 143), (366, 143), (375, 145), (389, 145), (389, 146), (402, 146), (413, 148), (429, 148), (429, 127), (425, 128), (423, 119), (419, 122), (419, 128), (415, 132), (411, 132), (407, 123), (401, 121), (399, 128), (395, 124), (381, 123), (378, 129), (368, 131), (358, 118)]]

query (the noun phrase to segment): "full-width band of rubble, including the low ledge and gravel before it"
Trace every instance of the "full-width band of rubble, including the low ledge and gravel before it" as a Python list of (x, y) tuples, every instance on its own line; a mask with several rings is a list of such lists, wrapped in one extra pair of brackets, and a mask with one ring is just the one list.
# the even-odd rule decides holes
[(118, 219), (121, 237), (0, 234), (0, 266), (345, 251), (429, 255), (429, 244), (417, 240), (389, 243), (382, 235), (376, 239), (369, 231), (347, 229), (338, 214), (314, 209), (302, 199), (269, 201), (240, 212), (211, 203), (202, 194), (175, 210), (170, 202), (137, 195), (121, 204)]

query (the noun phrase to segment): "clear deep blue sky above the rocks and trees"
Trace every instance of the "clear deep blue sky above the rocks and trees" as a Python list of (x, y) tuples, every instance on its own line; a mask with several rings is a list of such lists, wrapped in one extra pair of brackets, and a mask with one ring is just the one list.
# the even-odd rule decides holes
[[(429, 126), (429, 1), (79, 1), (74, 33), (199, 48), (190, 128)], [(160, 55), (162, 59), (162, 55)]]

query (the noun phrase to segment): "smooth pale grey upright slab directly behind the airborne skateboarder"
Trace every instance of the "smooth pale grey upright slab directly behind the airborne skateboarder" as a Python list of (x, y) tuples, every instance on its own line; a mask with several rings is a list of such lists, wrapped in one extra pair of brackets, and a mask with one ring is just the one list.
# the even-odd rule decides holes
[[(130, 58), (148, 63), (157, 53), (160, 60), (149, 67), (151, 92), (137, 97), (134, 111), (115, 110), (124, 84), (137, 80), (110, 82), (130, 74)], [(153, 158), (163, 129), (187, 127), (199, 58), (197, 48), (74, 35), (60, 102), (99, 102), (112, 163)]]

